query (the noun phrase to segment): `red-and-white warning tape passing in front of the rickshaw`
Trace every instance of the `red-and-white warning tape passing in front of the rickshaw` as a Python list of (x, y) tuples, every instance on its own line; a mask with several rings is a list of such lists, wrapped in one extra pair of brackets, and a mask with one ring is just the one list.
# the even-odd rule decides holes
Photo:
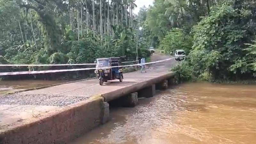
[[(165, 59), (165, 60), (158, 60), (154, 62), (144, 63), (144, 65), (159, 63), (167, 60), (171, 60), (173, 58)], [(140, 66), (142, 64), (134, 64), (134, 65), (126, 65), (126, 66), (115, 66), (115, 67), (104, 67), (101, 69), (107, 68), (118, 68), (118, 67), (131, 67), (131, 66)], [(59, 70), (43, 70), (43, 71), (21, 71), (21, 72), (5, 72), (0, 73), (0, 76), (9, 76), (9, 75), (24, 75), (24, 74), (44, 74), (44, 73), (56, 73), (56, 72), (66, 72), (66, 71), (81, 71), (81, 70), (91, 70), (96, 68), (77, 68), (77, 69), (59, 69)]]

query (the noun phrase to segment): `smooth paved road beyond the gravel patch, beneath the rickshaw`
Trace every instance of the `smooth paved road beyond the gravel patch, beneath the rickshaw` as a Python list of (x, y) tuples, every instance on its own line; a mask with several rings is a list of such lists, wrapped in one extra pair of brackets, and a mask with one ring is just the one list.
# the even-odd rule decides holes
[[(154, 54), (151, 61), (164, 60), (170, 57)], [(23, 92), (24, 94), (54, 94), (54, 95), (68, 95), (68, 96), (93, 96), (102, 93), (110, 92), (115, 89), (120, 89), (125, 86), (132, 85), (136, 82), (141, 82), (150, 79), (154, 76), (168, 72), (170, 67), (175, 63), (175, 60), (156, 63), (149, 66), (148, 73), (140, 73), (140, 71), (124, 74), (124, 81), (113, 80), (110, 83), (105, 83), (104, 86), (99, 85), (97, 79), (85, 80), (76, 83), (62, 84), (40, 90)]]

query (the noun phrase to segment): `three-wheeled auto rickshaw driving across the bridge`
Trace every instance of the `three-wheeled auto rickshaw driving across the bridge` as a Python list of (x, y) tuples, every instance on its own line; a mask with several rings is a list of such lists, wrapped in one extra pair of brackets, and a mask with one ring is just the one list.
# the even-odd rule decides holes
[[(120, 58), (99, 58), (96, 59), (96, 70), (95, 74), (100, 80), (100, 85), (108, 80), (119, 79), (123, 82), (123, 68), (121, 65)], [(114, 67), (114, 68), (110, 68)]]

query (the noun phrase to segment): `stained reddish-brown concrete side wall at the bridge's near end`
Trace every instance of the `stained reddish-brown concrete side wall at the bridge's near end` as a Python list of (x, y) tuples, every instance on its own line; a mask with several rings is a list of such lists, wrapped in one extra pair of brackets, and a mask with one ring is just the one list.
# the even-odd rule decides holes
[[(26, 119), (0, 130), (0, 144), (66, 143), (103, 123), (108, 115), (103, 98), (88, 100), (61, 107), (43, 116)], [(104, 117), (104, 121), (106, 117)]]

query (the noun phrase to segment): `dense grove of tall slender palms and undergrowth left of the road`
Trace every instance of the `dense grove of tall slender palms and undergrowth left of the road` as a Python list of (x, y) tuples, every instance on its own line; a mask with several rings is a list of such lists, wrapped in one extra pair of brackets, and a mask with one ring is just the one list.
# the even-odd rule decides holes
[[(132, 12), (135, 7), (134, 0), (0, 0), (0, 62), (92, 63), (99, 57), (135, 60), (138, 36), (139, 57), (149, 56), (151, 34), (137, 34), (146, 18), (138, 21)], [(145, 12), (138, 17), (145, 17)]]

